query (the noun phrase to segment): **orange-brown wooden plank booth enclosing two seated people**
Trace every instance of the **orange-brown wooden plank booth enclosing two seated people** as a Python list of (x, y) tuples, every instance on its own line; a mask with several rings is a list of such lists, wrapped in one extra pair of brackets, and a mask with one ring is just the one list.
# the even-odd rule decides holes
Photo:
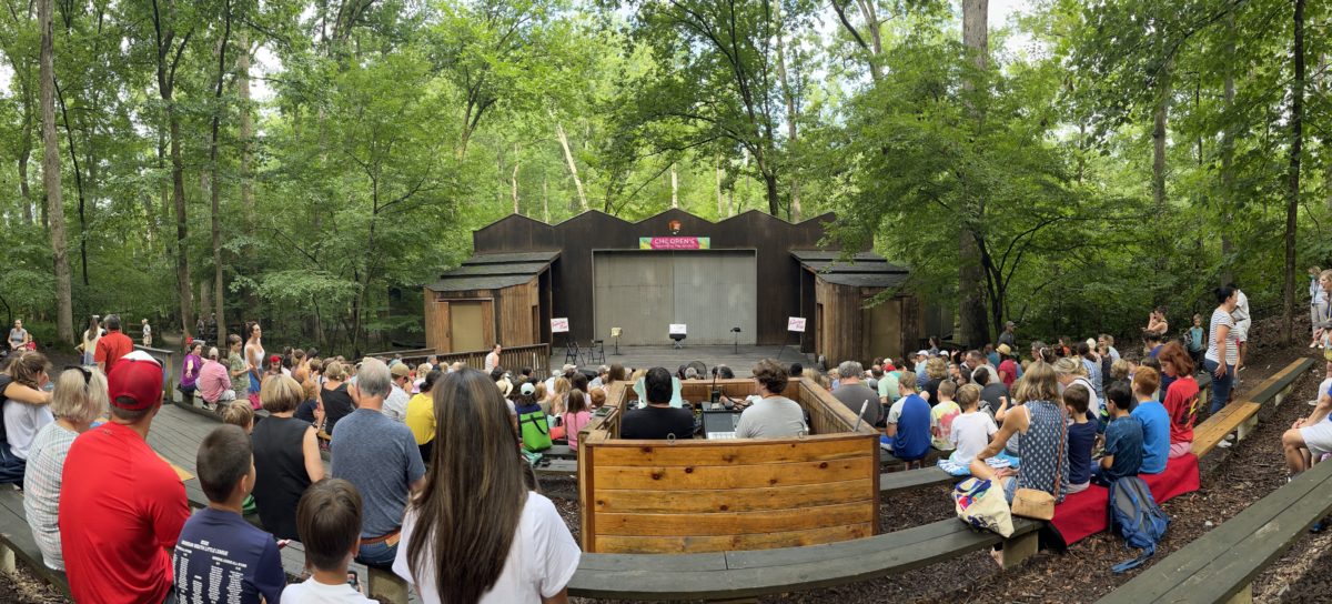
[[(707, 397), (711, 381), (682, 395)], [(718, 380), (729, 396), (753, 380)], [(683, 553), (769, 549), (843, 541), (879, 527), (878, 431), (818, 384), (793, 379), (785, 393), (818, 433), (801, 439), (619, 440), (627, 383), (609, 387), (609, 413), (579, 439), (578, 489), (586, 552)], [(794, 395), (794, 396), (791, 396)]]

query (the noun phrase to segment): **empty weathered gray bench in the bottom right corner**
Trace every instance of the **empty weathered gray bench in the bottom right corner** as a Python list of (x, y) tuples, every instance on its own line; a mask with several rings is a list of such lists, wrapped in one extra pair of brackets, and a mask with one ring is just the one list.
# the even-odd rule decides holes
[(1251, 583), (1332, 512), (1332, 463), (1315, 465), (1100, 603), (1248, 603)]

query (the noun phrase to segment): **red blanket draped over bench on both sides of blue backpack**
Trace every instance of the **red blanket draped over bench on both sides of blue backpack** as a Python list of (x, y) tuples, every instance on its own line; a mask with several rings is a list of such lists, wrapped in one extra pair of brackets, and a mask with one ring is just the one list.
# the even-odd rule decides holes
[[(1152, 489), (1152, 497), (1158, 504), (1197, 491), (1200, 487), (1197, 457), (1193, 453), (1167, 461), (1162, 473), (1144, 473), (1138, 477)], [(1070, 495), (1062, 504), (1055, 505), (1055, 519), (1051, 524), (1064, 537), (1064, 544), (1072, 545), (1110, 528), (1108, 505), (1110, 489), (1094, 484), (1087, 491)]]

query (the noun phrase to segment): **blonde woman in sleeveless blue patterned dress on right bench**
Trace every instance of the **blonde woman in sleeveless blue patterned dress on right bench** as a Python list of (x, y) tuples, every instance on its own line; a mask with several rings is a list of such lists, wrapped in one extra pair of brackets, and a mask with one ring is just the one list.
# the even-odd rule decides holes
[[(1007, 409), (994, 440), (971, 461), (971, 475), (983, 480), (998, 480), (1003, 485), (1008, 503), (1012, 503), (1012, 496), (1019, 488), (1044, 491), (1052, 495), (1056, 501), (1062, 501), (1064, 493), (1068, 492), (1067, 435), (1064, 433), (1067, 421), (1059, 403), (1059, 381), (1055, 380), (1055, 369), (1040, 360), (1032, 363), (1022, 381), (1018, 383), (1014, 397), (1018, 404)], [(998, 455), (1008, 439), (1016, 433), (1022, 435), (1018, 443), (1022, 465), (1016, 471), (991, 468), (986, 460)], [(1064, 451), (1060, 451), (1060, 444), (1063, 444)], [(1060, 457), (1066, 463), (1059, 463)]]

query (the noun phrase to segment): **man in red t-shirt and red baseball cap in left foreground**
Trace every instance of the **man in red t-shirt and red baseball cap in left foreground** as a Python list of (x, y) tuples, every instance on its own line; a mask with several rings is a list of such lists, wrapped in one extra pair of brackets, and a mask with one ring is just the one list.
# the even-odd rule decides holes
[(170, 555), (189, 517), (185, 487), (148, 447), (163, 368), (144, 352), (107, 379), (111, 421), (75, 439), (60, 493), (60, 547), (75, 601), (160, 603)]

